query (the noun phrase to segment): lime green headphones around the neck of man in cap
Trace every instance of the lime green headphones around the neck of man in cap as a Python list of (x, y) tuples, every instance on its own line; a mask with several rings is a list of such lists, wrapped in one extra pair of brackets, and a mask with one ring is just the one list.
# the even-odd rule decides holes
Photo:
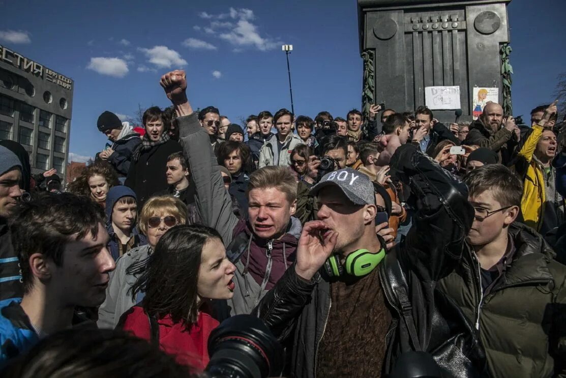
[(346, 257), (344, 265), (340, 262), (340, 255), (334, 254), (328, 257), (324, 268), (329, 277), (340, 277), (344, 272), (350, 276), (363, 277), (375, 269), (385, 257), (385, 250), (381, 248), (378, 253), (368, 250), (357, 250)]

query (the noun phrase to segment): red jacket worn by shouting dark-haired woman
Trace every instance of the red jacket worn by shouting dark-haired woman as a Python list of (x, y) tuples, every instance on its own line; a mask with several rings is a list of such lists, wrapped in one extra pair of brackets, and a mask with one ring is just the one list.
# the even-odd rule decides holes
[[(199, 311), (196, 323), (186, 330), (182, 323), (173, 323), (171, 317), (157, 320), (159, 324), (159, 345), (165, 353), (175, 356), (178, 363), (191, 366), (202, 372), (208, 364), (208, 336), (218, 327), (218, 321), (209, 313)], [(149, 319), (143, 308), (130, 308), (120, 320), (122, 329), (135, 336), (151, 341)]]

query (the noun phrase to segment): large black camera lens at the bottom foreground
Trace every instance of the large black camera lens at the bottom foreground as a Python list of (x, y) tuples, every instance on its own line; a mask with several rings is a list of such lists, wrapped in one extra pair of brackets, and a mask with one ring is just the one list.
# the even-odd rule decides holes
[(208, 339), (211, 377), (263, 378), (278, 376), (285, 351), (267, 326), (255, 316), (236, 315), (223, 321)]

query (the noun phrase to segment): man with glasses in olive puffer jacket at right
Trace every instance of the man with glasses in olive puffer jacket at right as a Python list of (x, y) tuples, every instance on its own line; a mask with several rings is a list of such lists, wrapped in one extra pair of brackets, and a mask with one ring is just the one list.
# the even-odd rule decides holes
[(566, 372), (566, 267), (541, 235), (514, 222), (523, 194), (507, 167), (490, 164), (464, 179), (475, 210), (464, 255), (437, 289), (475, 324), (494, 377)]

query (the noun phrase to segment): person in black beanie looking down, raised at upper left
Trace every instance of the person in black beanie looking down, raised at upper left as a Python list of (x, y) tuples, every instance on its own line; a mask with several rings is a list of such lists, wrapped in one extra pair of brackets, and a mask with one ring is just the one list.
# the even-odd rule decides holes
[(98, 117), (96, 126), (112, 142), (109, 148), (97, 154), (98, 157), (108, 161), (118, 177), (126, 177), (132, 153), (141, 143), (140, 135), (134, 132), (130, 123), (121, 122), (117, 115), (108, 110)]

